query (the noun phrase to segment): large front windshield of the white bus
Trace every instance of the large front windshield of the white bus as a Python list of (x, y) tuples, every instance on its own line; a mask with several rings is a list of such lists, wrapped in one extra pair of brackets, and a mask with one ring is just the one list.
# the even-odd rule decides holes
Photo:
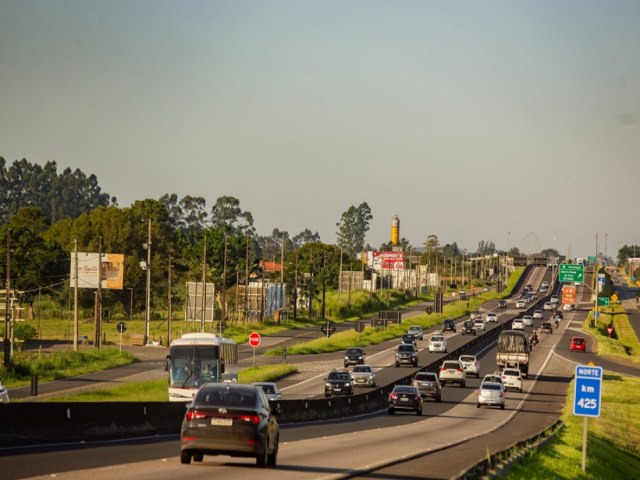
[(220, 381), (217, 345), (184, 345), (171, 347), (169, 385), (178, 388), (199, 387)]

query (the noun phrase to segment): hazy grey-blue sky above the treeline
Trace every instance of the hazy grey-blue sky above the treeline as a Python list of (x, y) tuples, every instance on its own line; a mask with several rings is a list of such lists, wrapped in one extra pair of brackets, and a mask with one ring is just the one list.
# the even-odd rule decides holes
[[(0, 156), (261, 235), (640, 244), (640, 2), (0, 0)], [(510, 234), (508, 232), (511, 232)]]

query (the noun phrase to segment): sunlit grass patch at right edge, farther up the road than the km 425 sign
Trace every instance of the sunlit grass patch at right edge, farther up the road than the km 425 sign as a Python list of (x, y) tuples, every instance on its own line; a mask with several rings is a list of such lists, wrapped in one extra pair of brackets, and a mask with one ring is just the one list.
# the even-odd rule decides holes
[[(601, 308), (600, 318), (595, 328), (589, 326), (592, 321), (593, 312), (589, 312), (582, 330), (595, 337), (598, 354), (640, 363), (640, 341), (638, 341), (622, 305)], [(607, 326), (611, 323), (613, 323), (615, 333), (609, 338)]]

